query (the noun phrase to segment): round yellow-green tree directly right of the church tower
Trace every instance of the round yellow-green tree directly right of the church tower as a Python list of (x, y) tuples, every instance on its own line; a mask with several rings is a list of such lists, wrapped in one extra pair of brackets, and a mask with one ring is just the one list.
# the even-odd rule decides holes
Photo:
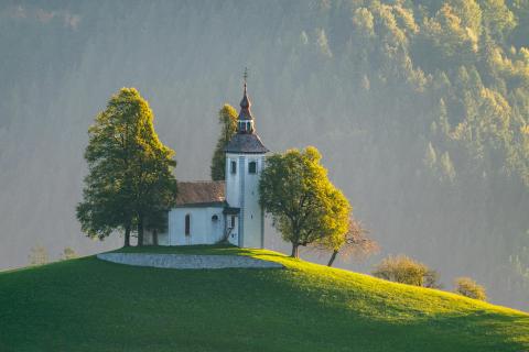
[(259, 182), (260, 204), (292, 243), (293, 257), (299, 257), (300, 245), (347, 232), (349, 202), (328, 180), (320, 160), (313, 146), (273, 154)]

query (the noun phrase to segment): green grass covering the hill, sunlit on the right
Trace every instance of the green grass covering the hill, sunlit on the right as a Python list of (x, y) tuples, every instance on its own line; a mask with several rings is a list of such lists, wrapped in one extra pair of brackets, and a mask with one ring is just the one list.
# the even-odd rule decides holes
[(529, 351), (529, 315), (512, 309), (271, 251), (143, 251), (241, 254), (285, 268), (85, 257), (0, 273), (0, 351)]

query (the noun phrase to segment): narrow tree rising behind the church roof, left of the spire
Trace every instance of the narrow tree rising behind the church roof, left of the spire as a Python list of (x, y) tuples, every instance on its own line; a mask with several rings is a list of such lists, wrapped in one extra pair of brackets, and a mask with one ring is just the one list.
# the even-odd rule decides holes
[(224, 180), (226, 178), (224, 148), (237, 132), (237, 111), (234, 107), (228, 103), (224, 105), (224, 107), (218, 110), (218, 122), (222, 125), (222, 132), (212, 157), (210, 173), (213, 180)]

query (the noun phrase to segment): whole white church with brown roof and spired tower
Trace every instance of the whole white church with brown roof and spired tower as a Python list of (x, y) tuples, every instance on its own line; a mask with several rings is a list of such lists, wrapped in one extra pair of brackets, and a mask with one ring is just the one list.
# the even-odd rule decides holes
[[(269, 150), (256, 133), (251, 102), (240, 101), (237, 133), (226, 152), (226, 182), (179, 183), (176, 206), (169, 211), (160, 245), (214, 244), (228, 240), (244, 248), (264, 246), (264, 213), (259, 205), (259, 176)], [(145, 243), (152, 234), (145, 233)]]

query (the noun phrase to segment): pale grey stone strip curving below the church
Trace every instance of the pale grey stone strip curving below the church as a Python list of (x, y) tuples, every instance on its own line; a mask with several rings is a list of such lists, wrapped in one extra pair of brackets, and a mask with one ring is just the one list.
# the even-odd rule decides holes
[(283, 267), (279, 263), (240, 255), (101, 253), (97, 257), (119, 264), (168, 268)]

